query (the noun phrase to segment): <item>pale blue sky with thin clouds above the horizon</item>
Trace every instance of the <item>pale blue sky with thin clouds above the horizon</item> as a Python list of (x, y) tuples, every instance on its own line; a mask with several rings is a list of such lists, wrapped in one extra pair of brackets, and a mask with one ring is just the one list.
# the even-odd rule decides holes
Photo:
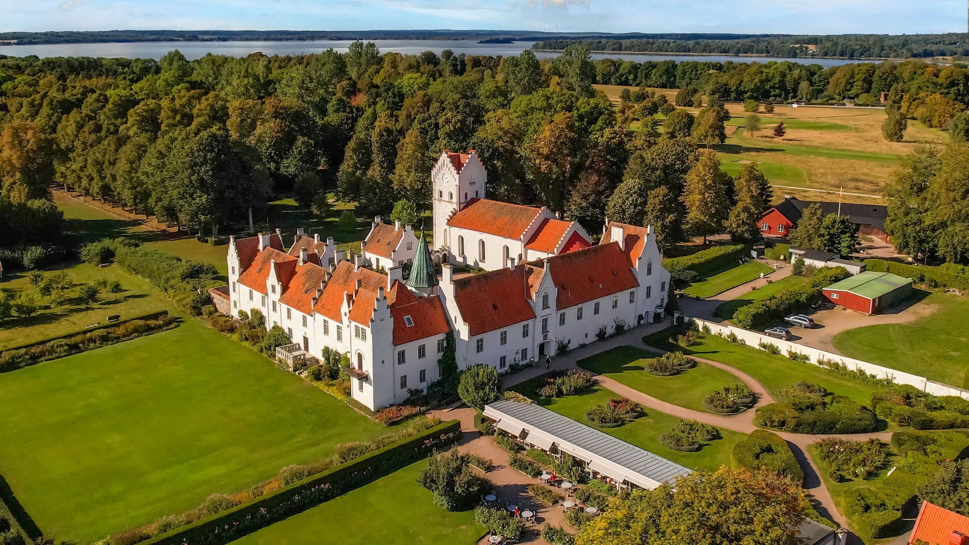
[(920, 34), (966, 0), (0, 0), (0, 31), (501, 29)]

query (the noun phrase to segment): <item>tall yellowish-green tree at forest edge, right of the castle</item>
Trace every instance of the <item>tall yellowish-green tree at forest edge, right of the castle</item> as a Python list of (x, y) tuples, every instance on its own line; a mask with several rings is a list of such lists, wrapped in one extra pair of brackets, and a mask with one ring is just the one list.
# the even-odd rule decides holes
[(686, 175), (680, 201), (686, 207), (686, 228), (693, 235), (706, 237), (723, 231), (724, 220), (730, 210), (726, 186), (730, 176), (720, 170), (720, 158), (715, 151), (703, 149), (696, 166)]

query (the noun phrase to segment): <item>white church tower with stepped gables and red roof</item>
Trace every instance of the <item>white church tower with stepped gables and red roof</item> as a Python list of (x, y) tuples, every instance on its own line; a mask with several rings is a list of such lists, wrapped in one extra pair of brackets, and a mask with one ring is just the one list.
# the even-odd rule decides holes
[(441, 152), (430, 171), (433, 185), (431, 211), (434, 214), (434, 247), (450, 248), (448, 220), (471, 199), (485, 199), (487, 171), (474, 149)]

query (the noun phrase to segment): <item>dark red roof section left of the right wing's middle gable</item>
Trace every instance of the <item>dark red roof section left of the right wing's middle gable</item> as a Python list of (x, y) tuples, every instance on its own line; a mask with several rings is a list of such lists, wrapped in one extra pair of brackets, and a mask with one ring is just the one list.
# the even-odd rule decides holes
[[(528, 266), (474, 274), (454, 280), (454, 302), (471, 335), (481, 335), (535, 317), (528, 303)], [(538, 276), (537, 274), (533, 274)], [(531, 291), (529, 289), (529, 291)]]

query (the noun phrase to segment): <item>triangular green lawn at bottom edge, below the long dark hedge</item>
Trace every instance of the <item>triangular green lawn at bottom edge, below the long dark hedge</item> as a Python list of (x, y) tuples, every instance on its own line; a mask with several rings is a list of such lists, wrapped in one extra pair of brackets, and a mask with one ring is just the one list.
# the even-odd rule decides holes
[(452, 513), (434, 504), (430, 493), (417, 483), (426, 465), (426, 461), (408, 465), (233, 543), (474, 543), (485, 533), (485, 527), (475, 522), (474, 511)]

